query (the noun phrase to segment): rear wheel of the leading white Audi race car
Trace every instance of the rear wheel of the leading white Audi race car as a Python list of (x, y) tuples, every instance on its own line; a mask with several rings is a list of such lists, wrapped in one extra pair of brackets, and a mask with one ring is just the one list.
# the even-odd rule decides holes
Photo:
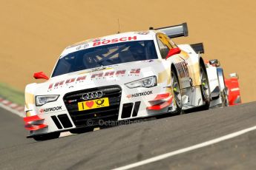
[(200, 79), (201, 79), (201, 93), (203, 97), (204, 105), (201, 109), (209, 109), (211, 102), (210, 85), (206, 72), (206, 67), (203, 62), (200, 62)]

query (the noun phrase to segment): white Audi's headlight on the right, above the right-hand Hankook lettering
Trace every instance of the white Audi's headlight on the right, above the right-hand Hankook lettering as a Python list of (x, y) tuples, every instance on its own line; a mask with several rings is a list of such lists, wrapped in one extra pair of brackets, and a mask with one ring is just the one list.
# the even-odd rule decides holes
[(125, 86), (128, 86), (128, 88), (136, 88), (136, 87), (152, 87), (152, 86), (157, 86), (157, 77), (156, 76), (151, 76), (148, 78), (142, 78), (138, 81), (132, 81), (128, 84), (125, 84)]

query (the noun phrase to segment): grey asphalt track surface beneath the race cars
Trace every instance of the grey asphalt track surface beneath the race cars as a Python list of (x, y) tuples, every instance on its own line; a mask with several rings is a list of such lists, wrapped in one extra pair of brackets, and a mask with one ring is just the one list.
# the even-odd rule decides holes
[[(36, 142), (0, 109), (0, 169), (114, 169), (256, 126), (256, 102)], [(255, 169), (256, 130), (135, 169)]]

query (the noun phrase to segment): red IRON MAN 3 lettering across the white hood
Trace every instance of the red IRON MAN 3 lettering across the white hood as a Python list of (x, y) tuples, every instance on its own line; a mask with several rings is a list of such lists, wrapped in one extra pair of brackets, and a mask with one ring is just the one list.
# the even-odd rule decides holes
[[(97, 73), (93, 73), (89, 78), (91, 78), (91, 80), (93, 80), (93, 79), (98, 79), (98, 78), (125, 76), (125, 74), (127, 74), (128, 76), (132, 76), (132, 75), (137, 76), (140, 74), (140, 69), (131, 69), (130, 71), (121, 69), (121, 70), (116, 70), (116, 71), (97, 72)], [(48, 86), (48, 90), (57, 89), (58, 87), (62, 87), (62, 86), (68, 86), (72, 83), (80, 83), (80, 82), (85, 81), (87, 78), (88, 78), (87, 75), (82, 75), (77, 78), (70, 78), (67, 80), (58, 81), (56, 83), (50, 84)]]

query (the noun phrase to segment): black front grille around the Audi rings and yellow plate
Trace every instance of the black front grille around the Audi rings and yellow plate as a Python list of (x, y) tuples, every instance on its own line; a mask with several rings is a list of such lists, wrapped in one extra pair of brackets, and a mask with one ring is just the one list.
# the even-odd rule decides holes
[[(82, 95), (88, 92), (102, 91), (102, 98), (108, 98), (109, 106), (78, 111), (78, 102), (85, 101)], [(100, 121), (117, 120), (122, 89), (120, 86), (102, 86), (67, 93), (63, 101), (68, 109), (73, 123), (77, 126), (96, 126)]]

